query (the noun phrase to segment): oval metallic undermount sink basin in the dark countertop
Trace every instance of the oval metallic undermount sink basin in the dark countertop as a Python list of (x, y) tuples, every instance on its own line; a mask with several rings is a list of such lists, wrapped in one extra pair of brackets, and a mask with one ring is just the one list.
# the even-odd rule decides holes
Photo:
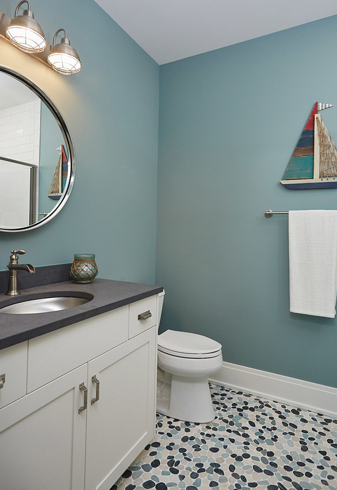
[(1, 313), (13, 313), (27, 315), (29, 313), (47, 313), (59, 310), (67, 310), (76, 306), (84, 305), (92, 297), (77, 296), (54, 296), (51, 298), (38, 298), (28, 301), (20, 301), (0, 309)]

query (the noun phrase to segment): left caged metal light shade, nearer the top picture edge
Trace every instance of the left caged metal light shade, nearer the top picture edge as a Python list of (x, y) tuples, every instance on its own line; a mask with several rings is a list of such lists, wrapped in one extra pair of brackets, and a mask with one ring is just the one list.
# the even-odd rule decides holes
[[(25, 3), (28, 4), (28, 10), (23, 10), (22, 15), (17, 15), (19, 7)], [(6, 35), (17, 48), (26, 53), (43, 51), (46, 46), (43, 31), (34, 19), (34, 14), (26, 0), (16, 7), (15, 17), (7, 26)]]

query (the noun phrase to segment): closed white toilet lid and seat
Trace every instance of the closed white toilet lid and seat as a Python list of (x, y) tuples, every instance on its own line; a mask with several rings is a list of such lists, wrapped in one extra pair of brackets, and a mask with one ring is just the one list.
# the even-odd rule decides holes
[(166, 330), (158, 335), (158, 350), (178, 357), (215, 357), (222, 345), (203, 335)]

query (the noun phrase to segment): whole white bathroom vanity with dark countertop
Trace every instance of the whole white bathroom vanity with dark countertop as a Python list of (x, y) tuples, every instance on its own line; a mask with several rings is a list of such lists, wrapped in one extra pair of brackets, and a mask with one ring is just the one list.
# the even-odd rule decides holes
[[(95, 279), (1, 296), (1, 490), (109, 490), (153, 439), (161, 291)], [(1, 312), (81, 294), (92, 299), (68, 310)]]

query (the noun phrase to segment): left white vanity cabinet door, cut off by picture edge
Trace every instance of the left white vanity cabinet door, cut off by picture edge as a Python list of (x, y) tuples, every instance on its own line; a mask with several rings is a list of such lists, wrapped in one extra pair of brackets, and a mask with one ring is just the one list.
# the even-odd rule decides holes
[(87, 365), (0, 410), (1, 490), (83, 490)]

